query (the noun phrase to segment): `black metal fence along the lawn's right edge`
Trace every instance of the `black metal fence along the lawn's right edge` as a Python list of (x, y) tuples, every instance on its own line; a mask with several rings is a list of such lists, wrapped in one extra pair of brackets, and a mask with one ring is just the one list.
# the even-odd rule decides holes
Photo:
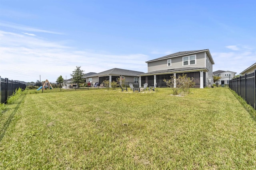
[(256, 70), (230, 80), (229, 87), (256, 109)]

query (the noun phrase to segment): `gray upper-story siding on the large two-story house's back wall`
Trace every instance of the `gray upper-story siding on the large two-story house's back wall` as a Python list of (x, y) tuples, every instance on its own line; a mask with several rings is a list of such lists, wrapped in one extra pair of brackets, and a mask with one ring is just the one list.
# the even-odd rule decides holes
[(196, 54), (196, 64), (183, 66), (183, 57), (188, 57), (188, 56), (191, 56), (191, 55), (169, 58), (171, 59), (171, 66), (167, 66), (168, 59), (149, 62), (148, 72), (175, 69), (175, 68), (186, 68), (188, 66), (205, 68), (205, 52)]

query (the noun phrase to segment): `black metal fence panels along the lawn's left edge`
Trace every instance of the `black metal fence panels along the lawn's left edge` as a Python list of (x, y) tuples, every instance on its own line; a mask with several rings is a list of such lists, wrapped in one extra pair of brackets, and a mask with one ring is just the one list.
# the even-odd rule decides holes
[(8, 97), (18, 88), (25, 90), (26, 84), (8, 80), (8, 78), (1, 78), (0, 76), (0, 103), (6, 103)]

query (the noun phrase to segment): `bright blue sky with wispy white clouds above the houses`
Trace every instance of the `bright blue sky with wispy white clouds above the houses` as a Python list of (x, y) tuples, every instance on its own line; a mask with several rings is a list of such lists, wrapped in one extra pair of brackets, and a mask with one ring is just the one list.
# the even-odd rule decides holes
[(213, 71), (256, 63), (255, 0), (0, 0), (0, 76), (55, 82), (209, 49)]

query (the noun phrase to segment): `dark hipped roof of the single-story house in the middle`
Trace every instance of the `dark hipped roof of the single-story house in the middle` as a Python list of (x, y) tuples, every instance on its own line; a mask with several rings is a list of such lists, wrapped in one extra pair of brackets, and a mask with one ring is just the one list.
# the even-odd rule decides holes
[(137, 76), (138, 74), (143, 74), (144, 72), (140, 71), (133, 71), (133, 70), (125, 70), (121, 68), (112, 68), (110, 70), (106, 70), (103, 72), (99, 72), (96, 74), (92, 74), (90, 76), (85, 76), (87, 77), (94, 77), (94, 76), (101, 76), (101, 75), (107, 75), (107, 74), (115, 74), (115, 75), (122, 75), (122, 76)]

